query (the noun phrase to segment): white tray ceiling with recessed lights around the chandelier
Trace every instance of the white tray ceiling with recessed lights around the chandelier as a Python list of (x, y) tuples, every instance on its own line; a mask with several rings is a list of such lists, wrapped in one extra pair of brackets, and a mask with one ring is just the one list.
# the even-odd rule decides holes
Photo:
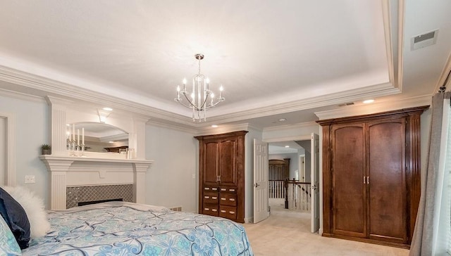
[[(312, 122), (314, 113), (359, 108), (367, 98), (418, 103), (450, 68), (449, 0), (0, 6), (1, 91), (75, 98), (187, 129)], [(411, 50), (412, 37), (433, 30), (435, 44)], [(205, 56), (210, 89), (223, 85), (226, 98), (200, 124), (173, 100), (182, 79), (197, 73), (195, 53)]]

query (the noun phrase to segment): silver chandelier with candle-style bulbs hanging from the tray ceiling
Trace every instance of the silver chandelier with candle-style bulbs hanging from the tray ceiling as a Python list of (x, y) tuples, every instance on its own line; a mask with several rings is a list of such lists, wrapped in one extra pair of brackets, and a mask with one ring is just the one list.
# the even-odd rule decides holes
[[(187, 81), (183, 79), (183, 89), (180, 91), (180, 86), (177, 86), (177, 98), (174, 98), (174, 100), (192, 109), (193, 122), (202, 122), (202, 120), (206, 121), (206, 110), (213, 108), (226, 98), (223, 98), (222, 85), (219, 88), (219, 97), (215, 98), (214, 92), (209, 89), (210, 80), (200, 73), (200, 60), (204, 58), (204, 55), (198, 53), (194, 57), (199, 60), (199, 72), (192, 77), (192, 91), (190, 93), (187, 92)], [(187, 103), (183, 101), (183, 97)]]

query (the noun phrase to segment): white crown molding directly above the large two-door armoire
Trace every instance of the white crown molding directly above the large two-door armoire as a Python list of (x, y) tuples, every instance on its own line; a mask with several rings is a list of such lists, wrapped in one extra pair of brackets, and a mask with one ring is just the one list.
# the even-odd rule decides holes
[(402, 108), (414, 108), (421, 105), (431, 105), (432, 95), (404, 98), (400, 101), (381, 101), (371, 104), (350, 105), (335, 110), (315, 112), (319, 120), (328, 120), (354, 115), (369, 115)]

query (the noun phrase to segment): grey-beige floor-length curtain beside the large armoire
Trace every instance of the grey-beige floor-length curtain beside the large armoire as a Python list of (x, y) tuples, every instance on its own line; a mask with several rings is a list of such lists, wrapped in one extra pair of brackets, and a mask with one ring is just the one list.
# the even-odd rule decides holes
[[(440, 143), (442, 134), (444, 99), (450, 98), (451, 93), (438, 93), (432, 98), (431, 134), (429, 135), (428, 157), (424, 184), (421, 186), (421, 198), (410, 256), (431, 256), (433, 253), (433, 223), (435, 222), (434, 207), (437, 186), (438, 165), (440, 157)], [(445, 106), (449, 108), (450, 106)]]

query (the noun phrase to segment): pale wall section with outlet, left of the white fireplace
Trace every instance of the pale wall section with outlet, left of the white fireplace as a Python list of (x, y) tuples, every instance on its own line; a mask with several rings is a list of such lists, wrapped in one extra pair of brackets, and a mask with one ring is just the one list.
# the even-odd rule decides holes
[[(25, 186), (44, 198), (49, 206), (49, 173), (44, 162), (39, 160), (40, 146), (49, 143), (49, 113), (44, 99), (10, 98), (0, 96), (0, 112), (10, 113), (16, 117), (14, 126), (16, 185)], [(25, 175), (35, 175), (35, 184), (25, 184)]]

